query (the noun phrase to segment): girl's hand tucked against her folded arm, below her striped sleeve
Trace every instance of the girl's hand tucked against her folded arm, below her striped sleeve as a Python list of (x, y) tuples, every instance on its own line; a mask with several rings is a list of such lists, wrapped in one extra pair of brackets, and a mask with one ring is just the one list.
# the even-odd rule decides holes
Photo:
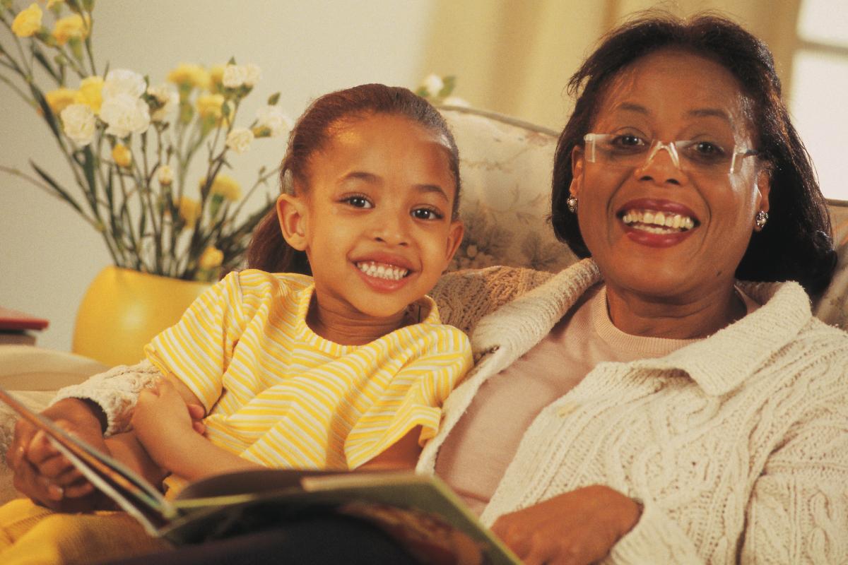
[[(199, 408), (202, 413), (203, 408)], [(155, 390), (142, 391), (138, 396), (131, 422), (153, 461), (168, 468), (169, 460), (179, 455), (187, 435), (196, 434), (203, 425), (194, 418), (196, 415), (198, 406), (187, 405), (175, 385), (162, 379)]]

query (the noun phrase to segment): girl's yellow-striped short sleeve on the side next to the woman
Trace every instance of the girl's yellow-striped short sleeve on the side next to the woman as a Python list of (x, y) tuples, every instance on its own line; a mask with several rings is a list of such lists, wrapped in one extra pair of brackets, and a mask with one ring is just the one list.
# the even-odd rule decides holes
[(349, 468), (358, 468), (421, 426), (419, 444), (438, 432), (442, 404), (471, 368), (471, 343), (444, 325), (432, 346), (393, 376), (381, 396), (363, 413), (344, 442)]

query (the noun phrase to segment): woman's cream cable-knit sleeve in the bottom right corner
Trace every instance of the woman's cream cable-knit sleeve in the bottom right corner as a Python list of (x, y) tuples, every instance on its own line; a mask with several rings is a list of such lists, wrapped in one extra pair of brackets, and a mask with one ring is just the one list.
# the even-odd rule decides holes
[(841, 394), (807, 411), (768, 458), (750, 498), (742, 562), (848, 563), (846, 376)]

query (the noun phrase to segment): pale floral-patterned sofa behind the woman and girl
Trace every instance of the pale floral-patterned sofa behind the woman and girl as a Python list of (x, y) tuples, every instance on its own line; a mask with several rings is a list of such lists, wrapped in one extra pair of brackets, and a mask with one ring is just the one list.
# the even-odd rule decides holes
[[(550, 174), (557, 132), (472, 108), (442, 108), (460, 147), (466, 235), (451, 269), (494, 264), (558, 271), (576, 258), (550, 227)], [(848, 329), (848, 202), (828, 202), (839, 263), (827, 291), (814, 301), (816, 315)], [(53, 391), (106, 367), (92, 359), (35, 346), (0, 346), (0, 386), (36, 410)], [(0, 458), (14, 414), (0, 407)], [(0, 502), (15, 496), (4, 460)]]

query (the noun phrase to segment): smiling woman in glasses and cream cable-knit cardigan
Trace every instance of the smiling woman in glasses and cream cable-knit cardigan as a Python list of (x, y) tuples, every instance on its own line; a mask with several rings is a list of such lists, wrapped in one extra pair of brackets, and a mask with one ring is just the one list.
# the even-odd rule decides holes
[[(528, 563), (845, 562), (848, 336), (810, 312), (835, 256), (770, 53), (725, 19), (649, 16), (571, 85), (552, 219), (591, 258), (444, 277), (477, 364), (419, 470)], [(137, 376), (63, 396), (115, 429)], [(47, 501), (14, 453), (30, 435), (10, 457)]]

